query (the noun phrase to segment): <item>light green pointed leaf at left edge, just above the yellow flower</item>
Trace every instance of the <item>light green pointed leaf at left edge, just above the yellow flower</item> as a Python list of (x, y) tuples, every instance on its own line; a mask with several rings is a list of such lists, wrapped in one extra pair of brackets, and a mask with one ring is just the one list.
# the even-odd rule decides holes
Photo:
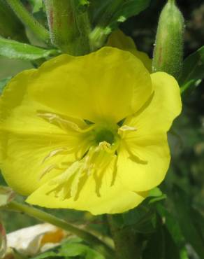
[(0, 55), (10, 59), (41, 59), (59, 54), (59, 50), (45, 50), (25, 43), (0, 38)]

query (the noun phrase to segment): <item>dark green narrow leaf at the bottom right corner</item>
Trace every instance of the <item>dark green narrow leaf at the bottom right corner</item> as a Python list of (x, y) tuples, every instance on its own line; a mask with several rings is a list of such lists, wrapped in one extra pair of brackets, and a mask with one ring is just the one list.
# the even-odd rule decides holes
[(191, 200), (182, 189), (175, 186), (172, 195), (182, 234), (200, 258), (203, 258), (204, 218), (196, 209), (191, 207)]

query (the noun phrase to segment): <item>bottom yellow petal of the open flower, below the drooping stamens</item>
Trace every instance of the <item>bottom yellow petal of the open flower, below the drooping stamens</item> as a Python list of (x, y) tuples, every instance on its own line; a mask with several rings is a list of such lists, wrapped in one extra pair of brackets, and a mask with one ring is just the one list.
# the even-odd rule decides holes
[[(100, 195), (96, 192), (96, 180), (94, 176), (87, 177), (82, 186), (78, 198), (68, 197), (61, 200), (50, 190), (53, 189), (53, 181), (45, 183), (28, 198), (27, 202), (48, 208), (69, 208), (82, 211), (90, 211), (94, 215), (122, 213), (133, 209), (142, 202), (147, 193), (135, 193), (125, 188), (119, 178), (112, 182), (111, 166), (105, 170), (100, 187)], [(68, 188), (68, 186), (67, 186)]]

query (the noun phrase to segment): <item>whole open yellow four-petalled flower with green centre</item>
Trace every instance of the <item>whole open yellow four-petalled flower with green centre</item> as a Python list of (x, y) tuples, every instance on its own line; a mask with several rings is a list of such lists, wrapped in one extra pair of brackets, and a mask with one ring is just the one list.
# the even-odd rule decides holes
[(41, 207), (122, 213), (168, 170), (180, 89), (131, 52), (104, 47), (23, 71), (0, 100), (1, 171)]

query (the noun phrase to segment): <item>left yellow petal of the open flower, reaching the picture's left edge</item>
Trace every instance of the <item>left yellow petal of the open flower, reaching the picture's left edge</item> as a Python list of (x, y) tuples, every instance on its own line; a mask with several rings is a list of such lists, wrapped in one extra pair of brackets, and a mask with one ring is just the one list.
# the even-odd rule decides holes
[(15, 76), (0, 99), (1, 172), (8, 185), (23, 195), (60, 174), (61, 163), (73, 162), (81, 148), (85, 152), (82, 133), (72, 129), (73, 125), (85, 127), (84, 121), (73, 119), (63, 127), (66, 117), (29, 97), (34, 73), (31, 69)]

